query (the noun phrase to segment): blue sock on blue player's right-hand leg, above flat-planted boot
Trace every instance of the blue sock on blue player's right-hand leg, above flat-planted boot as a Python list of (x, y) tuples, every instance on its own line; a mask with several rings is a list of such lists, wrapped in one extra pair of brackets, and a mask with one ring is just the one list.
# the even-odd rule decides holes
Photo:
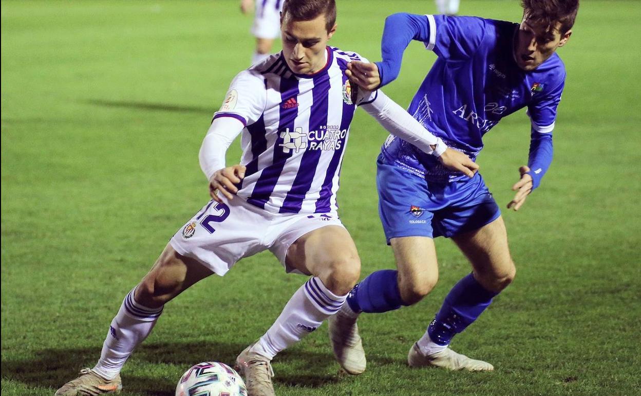
[(499, 293), (488, 291), (470, 273), (449, 291), (436, 318), (429, 323), (429, 338), (438, 345), (447, 345), (456, 333), (462, 332), (490, 306)]

